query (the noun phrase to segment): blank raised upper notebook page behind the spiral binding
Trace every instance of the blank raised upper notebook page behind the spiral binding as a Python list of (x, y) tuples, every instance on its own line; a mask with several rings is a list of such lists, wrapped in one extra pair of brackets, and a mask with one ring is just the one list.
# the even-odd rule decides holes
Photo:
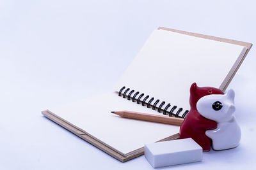
[[(176, 111), (179, 108), (184, 108), (183, 111), (189, 110), (191, 84), (196, 82), (199, 87), (219, 88), (237, 58), (243, 57), (245, 52), (244, 46), (156, 30), (152, 32), (114, 90), (119, 91), (123, 86), (129, 87), (135, 92), (149, 95), (147, 101), (151, 97), (154, 97), (154, 101), (166, 101), (162, 108), (170, 103), (177, 106)], [(159, 104), (160, 102), (157, 106)]]

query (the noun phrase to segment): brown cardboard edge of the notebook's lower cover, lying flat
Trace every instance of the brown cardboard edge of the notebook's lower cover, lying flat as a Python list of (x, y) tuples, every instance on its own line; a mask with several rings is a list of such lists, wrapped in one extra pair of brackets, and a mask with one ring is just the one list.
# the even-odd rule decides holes
[[(144, 155), (144, 150), (140, 149), (138, 151), (138, 153), (134, 153), (132, 155), (124, 157), (123, 155), (120, 155), (120, 153), (115, 152), (115, 150), (112, 150), (108, 146), (100, 143), (100, 141), (97, 141), (96, 139), (92, 138), (91, 136), (88, 136), (87, 134), (85, 134), (80, 129), (77, 129), (73, 125), (68, 124), (68, 122), (65, 122), (65, 120), (63, 120), (59, 117), (56, 117), (55, 115), (53, 115), (49, 111), (47, 111), (47, 110), (42, 111), (42, 115), (49, 118), (49, 120), (52, 120), (52, 122), (55, 122), (56, 124), (60, 125), (61, 127), (64, 127), (65, 129), (72, 132), (73, 134), (76, 134), (76, 136), (83, 139), (84, 141), (87, 141), (88, 143), (92, 144), (93, 146), (99, 148), (103, 152), (108, 153), (108, 155), (110, 155), (111, 157), (119, 160), (120, 162), (126, 162), (128, 160), (131, 160), (131, 159), (134, 159), (134, 158), (139, 157), (141, 155)], [(169, 139), (169, 140), (170, 139), (178, 139), (178, 138), (179, 138), (179, 134), (174, 134), (173, 136), (170, 136), (168, 138), (164, 138), (160, 141), (164, 141), (164, 140), (167, 140), (167, 139)]]

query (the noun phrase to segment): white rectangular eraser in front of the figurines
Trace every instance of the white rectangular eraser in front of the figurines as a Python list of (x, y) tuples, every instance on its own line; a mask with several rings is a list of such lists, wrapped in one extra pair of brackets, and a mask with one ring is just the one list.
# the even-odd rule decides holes
[(191, 138), (145, 145), (145, 158), (152, 167), (198, 162), (202, 156), (202, 147)]

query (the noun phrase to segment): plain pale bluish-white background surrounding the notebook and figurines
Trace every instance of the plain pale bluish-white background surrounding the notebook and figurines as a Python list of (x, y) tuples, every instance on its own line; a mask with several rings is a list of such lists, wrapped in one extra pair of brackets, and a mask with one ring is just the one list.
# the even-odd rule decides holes
[[(255, 44), (255, 6), (0, 0), (0, 169), (152, 169), (143, 156), (125, 163), (113, 159), (40, 111), (109, 91), (159, 26)], [(163, 169), (256, 167), (255, 55), (253, 46), (228, 87), (236, 91), (241, 145)]]

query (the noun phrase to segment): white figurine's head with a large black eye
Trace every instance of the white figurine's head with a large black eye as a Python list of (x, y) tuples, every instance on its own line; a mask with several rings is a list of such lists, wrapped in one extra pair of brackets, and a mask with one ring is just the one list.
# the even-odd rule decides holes
[(234, 90), (226, 94), (212, 94), (204, 96), (196, 103), (200, 115), (216, 122), (227, 122), (232, 119), (236, 110), (234, 106)]

